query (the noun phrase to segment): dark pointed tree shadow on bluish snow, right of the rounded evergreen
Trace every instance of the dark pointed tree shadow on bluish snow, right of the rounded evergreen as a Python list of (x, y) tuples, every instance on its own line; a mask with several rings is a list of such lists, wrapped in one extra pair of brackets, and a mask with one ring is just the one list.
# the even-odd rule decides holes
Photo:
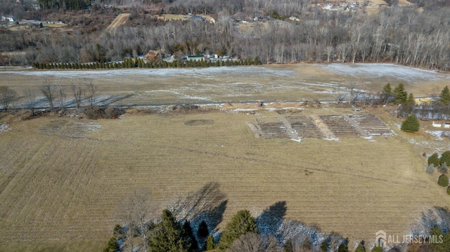
[(264, 209), (256, 218), (259, 234), (276, 234), (283, 223), (286, 211), (288, 211), (286, 201), (278, 201)]

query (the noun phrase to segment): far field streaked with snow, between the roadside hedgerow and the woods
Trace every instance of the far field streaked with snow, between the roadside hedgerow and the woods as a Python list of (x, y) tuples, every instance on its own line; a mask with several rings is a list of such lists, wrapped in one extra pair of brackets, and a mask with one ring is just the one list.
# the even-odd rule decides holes
[[(89, 80), (98, 88), (97, 100), (107, 105), (160, 105), (240, 102), (248, 100), (330, 100), (349, 95), (351, 86), (361, 95), (380, 92), (390, 82), (405, 84), (415, 97), (439, 95), (449, 84), (448, 74), (392, 64), (270, 65), (194, 69), (121, 69), (84, 71), (2, 71), (0, 86), (23, 93), (44, 81), (70, 89), (75, 81)], [(115, 99), (120, 97), (120, 99)], [(348, 98), (348, 97), (347, 97)], [(43, 97), (42, 97), (43, 99)], [(44, 100), (41, 100), (41, 102)], [(68, 95), (70, 103), (70, 95)], [(39, 103), (39, 106), (46, 104)], [(47, 104), (48, 105), (48, 104)]]

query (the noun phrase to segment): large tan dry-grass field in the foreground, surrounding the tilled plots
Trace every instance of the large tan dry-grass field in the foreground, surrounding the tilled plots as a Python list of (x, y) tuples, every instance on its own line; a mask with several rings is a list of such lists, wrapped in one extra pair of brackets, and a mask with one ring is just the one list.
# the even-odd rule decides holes
[[(335, 112), (349, 111), (302, 113)], [(247, 125), (255, 117), (214, 110), (125, 114), (95, 121), (101, 128), (77, 138), (72, 132), (82, 131), (81, 124), (89, 128), (91, 121), (10, 122), (11, 131), (0, 133), (2, 247), (56, 251), (68, 250), (62, 244), (69, 240), (91, 240), (98, 248), (95, 244), (106, 244), (121, 221), (122, 197), (141, 187), (163, 208), (174, 197), (217, 181), (229, 198), (225, 220), (242, 208), (257, 215), (285, 200), (288, 217), (367, 242), (378, 230), (402, 235), (423, 208), (450, 204), (423, 172), (425, 159), (406, 141), (410, 135), (375, 142), (264, 140)], [(190, 124), (193, 120), (208, 124)]]

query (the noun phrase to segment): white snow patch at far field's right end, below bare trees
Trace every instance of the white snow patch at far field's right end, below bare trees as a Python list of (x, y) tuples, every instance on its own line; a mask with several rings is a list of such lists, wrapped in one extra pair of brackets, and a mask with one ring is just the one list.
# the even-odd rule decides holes
[(413, 67), (404, 67), (394, 64), (329, 64), (319, 65), (338, 74), (351, 75), (353, 77), (397, 77), (411, 83), (419, 83), (421, 80), (450, 79), (447, 74), (439, 74), (435, 71), (423, 70)]

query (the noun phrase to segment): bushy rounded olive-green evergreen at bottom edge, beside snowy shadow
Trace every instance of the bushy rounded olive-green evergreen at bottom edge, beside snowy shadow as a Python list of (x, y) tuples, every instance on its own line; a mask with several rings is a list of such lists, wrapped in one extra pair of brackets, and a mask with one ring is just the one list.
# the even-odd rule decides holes
[(258, 232), (255, 218), (250, 215), (250, 211), (248, 210), (238, 211), (226, 225), (219, 244), (217, 244), (217, 249), (219, 251), (225, 251), (234, 240), (238, 239), (241, 235), (250, 232)]

